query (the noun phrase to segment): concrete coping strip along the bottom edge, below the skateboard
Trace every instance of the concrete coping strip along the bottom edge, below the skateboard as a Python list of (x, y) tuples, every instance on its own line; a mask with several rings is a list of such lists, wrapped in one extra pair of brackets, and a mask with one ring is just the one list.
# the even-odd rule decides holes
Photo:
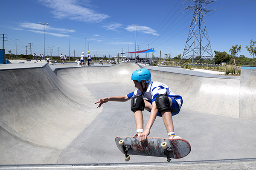
[(30, 165), (0, 165), (0, 170), (153, 170), (156, 167), (161, 170), (175, 168), (178, 170), (230, 170), (230, 169), (254, 169), (256, 158), (249, 159), (223, 159), (209, 161), (180, 161), (180, 162), (149, 162), (149, 163), (104, 163), (104, 164), (30, 164)]

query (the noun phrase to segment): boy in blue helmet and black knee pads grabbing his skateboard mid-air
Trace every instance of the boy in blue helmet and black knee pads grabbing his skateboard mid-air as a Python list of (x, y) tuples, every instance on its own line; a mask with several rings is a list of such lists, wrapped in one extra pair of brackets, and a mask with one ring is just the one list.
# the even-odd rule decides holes
[[(99, 99), (99, 108), (103, 103), (108, 101), (126, 102), (131, 99), (131, 111), (134, 113), (134, 119), (137, 127), (137, 134), (141, 142), (145, 142), (150, 133), (150, 129), (157, 116), (163, 118), (170, 139), (180, 138), (175, 136), (172, 116), (179, 113), (183, 103), (181, 96), (175, 95), (170, 88), (161, 83), (151, 81), (151, 73), (146, 68), (141, 68), (133, 72), (131, 80), (137, 88), (134, 92), (126, 96), (113, 96)], [(145, 99), (143, 99), (145, 98)], [(150, 116), (145, 129), (143, 128), (143, 113), (147, 110)]]

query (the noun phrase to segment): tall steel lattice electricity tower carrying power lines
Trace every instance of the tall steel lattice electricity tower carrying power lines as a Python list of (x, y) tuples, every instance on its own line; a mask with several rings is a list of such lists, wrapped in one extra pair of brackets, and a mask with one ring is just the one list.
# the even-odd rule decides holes
[[(186, 0), (184, 0), (185, 2)], [(189, 34), (186, 40), (186, 45), (182, 55), (182, 63), (189, 61), (189, 63), (204, 62), (215, 64), (214, 57), (212, 55), (212, 48), (204, 20), (204, 15), (212, 10), (206, 9), (209, 3), (214, 1), (209, 0), (190, 0), (195, 2), (195, 5), (187, 6), (186, 9), (194, 10), (193, 18), (189, 28)], [(184, 3), (183, 2), (183, 3)], [(203, 6), (203, 4), (205, 4)]]

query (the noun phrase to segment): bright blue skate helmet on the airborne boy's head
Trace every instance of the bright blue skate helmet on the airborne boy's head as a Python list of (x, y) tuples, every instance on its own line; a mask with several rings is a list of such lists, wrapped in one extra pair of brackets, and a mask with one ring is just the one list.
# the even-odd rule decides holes
[(146, 83), (149, 83), (151, 81), (151, 73), (146, 68), (140, 68), (131, 74), (131, 80), (137, 80), (138, 82), (145, 80)]

